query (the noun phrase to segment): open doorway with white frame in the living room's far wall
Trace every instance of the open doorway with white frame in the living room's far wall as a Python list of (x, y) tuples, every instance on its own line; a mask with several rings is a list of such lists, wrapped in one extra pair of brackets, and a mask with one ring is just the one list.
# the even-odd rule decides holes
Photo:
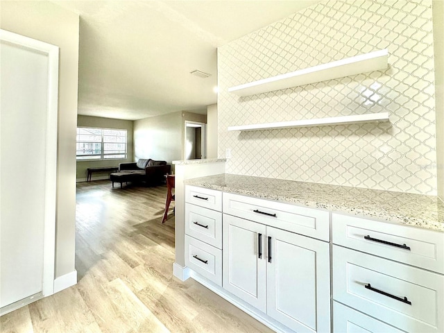
[(185, 160), (199, 160), (207, 157), (205, 123), (185, 121)]

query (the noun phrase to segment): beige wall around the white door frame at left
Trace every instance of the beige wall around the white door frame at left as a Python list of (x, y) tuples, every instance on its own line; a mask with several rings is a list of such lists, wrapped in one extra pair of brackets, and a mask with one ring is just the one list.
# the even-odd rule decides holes
[(75, 271), (79, 17), (49, 1), (1, 1), (0, 27), (60, 47), (56, 278)]

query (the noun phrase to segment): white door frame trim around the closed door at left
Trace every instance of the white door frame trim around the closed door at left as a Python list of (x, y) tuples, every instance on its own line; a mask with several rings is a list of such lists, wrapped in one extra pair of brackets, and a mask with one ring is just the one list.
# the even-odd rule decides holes
[[(43, 296), (54, 293), (56, 260), (56, 186), (58, 124), (59, 47), (0, 29), (0, 40), (48, 57), (48, 99), (46, 108), (46, 170), (44, 190)], [(15, 303), (13, 303), (15, 304)]]

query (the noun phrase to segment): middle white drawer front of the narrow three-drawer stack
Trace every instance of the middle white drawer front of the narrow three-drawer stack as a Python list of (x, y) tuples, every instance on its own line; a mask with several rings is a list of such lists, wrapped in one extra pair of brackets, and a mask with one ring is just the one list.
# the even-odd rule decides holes
[(207, 244), (222, 248), (222, 213), (185, 204), (185, 232)]

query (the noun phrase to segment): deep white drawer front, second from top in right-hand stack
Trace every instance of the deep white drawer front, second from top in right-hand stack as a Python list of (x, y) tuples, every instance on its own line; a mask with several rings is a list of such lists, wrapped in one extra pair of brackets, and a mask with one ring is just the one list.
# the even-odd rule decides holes
[(406, 332), (444, 331), (441, 274), (334, 245), (333, 298)]

